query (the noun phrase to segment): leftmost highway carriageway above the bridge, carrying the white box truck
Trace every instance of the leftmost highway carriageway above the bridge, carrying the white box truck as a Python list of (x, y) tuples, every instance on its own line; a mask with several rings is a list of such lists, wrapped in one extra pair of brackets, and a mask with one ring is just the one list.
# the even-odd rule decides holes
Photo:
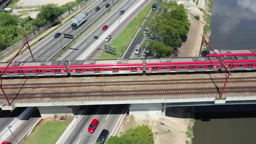
[[(114, 0), (115, 2), (116, 0)], [(88, 1), (89, 2), (89, 1)], [(94, 1), (90, 6), (85, 8), (82, 12), (89, 12), (87, 16), (87, 22), (84, 23), (82, 26), (80, 26), (80, 30), (83, 30), (86, 28), (89, 24), (91, 24), (98, 16), (100, 16), (106, 9), (106, 4), (112, 4), (112, 0), (107, 0), (106, 2), (102, 2), (102, 0), (96, 0)], [(95, 11), (95, 8), (99, 6), (100, 10), (98, 12)], [(111, 7), (110, 7), (111, 8)], [(80, 12), (80, 14), (82, 13)], [(72, 18), (73, 19), (73, 18)], [(60, 36), (58, 38), (53, 38), (56, 32), (61, 32), (65, 34), (72, 34), (73, 36), (76, 36), (79, 34), (79, 29), (72, 30), (71, 28), (72, 20), (68, 21), (66, 24), (63, 24), (60, 28), (55, 30), (52, 34), (38, 42), (35, 46), (33, 46), (32, 53), (34, 56), (34, 59), (36, 61), (47, 61), (50, 60), (59, 50), (62, 49), (60, 40), (62, 42), (62, 46), (65, 46), (70, 42), (72, 39), (64, 38), (63, 36)], [(16, 61), (32, 61), (32, 57), (30, 55), (29, 51), (24, 52), (24, 54), (18, 56)]]

